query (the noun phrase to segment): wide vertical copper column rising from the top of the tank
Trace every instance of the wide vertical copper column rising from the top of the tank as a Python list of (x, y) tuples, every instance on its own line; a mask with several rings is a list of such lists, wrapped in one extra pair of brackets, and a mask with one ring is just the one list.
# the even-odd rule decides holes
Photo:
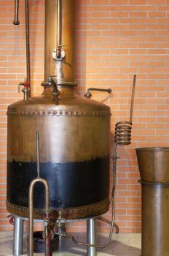
[[(52, 57), (59, 46), (65, 52), (62, 61)], [(50, 75), (56, 77), (58, 85), (75, 85), (74, 0), (45, 1), (44, 80)]]

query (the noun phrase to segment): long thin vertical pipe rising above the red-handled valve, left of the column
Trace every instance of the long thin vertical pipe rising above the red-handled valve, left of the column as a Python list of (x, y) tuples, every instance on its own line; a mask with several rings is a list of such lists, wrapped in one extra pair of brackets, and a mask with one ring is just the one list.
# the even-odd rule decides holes
[(30, 44), (29, 44), (29, 12), (28, 0), (25, 0), (25, 48), (26, 48), (26, 80), (29, 86), (29, 97), (31, 96), (30, 79)]

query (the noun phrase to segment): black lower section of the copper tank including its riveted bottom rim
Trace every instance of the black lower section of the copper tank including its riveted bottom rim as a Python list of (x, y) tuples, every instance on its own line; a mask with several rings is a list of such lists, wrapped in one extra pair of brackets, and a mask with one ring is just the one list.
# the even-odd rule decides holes
[[(28, 217), (28, 213), (25, 214), (28, 209), (28, 188), (36, 176), (36, 162), (16, 162), (15, 159), (8, 162), (9, 212)], [(85, 218), (103, 214), (109, 208), (109, 156), (83, 162), (40, 163), (40, 176), (50, 186), (52, 215), (58, 215), (61, 210), (66, 219), (76, 219), (77, 216)], [(40, 183), (34, 188), (34, 208), (35, 216), (41, 215), (44, 187)]]

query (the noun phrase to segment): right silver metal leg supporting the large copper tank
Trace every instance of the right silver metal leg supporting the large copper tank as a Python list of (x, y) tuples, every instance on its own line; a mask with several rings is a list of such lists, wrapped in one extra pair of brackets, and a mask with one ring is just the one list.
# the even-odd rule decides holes
[[(87, 243), (95, 244), (96, 240), (96, 221), (95, 219), (87, 219)], [(87, 246), (87, 256), (96, 256), (95, 247)]]

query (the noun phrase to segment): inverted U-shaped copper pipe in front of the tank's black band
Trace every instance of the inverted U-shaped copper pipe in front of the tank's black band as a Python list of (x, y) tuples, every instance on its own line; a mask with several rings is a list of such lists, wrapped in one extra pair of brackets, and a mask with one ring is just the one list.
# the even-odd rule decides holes
[[(44, 214), (45, 217), (48, 216), (50, 211), (50, 187), (47, 181), (44, 178), (34, 178), (31, 181), (28, 192), (28, 207), (29, 207), (29, 239), (28, 239), (28, 256), (32, 256), (34, 253), (34, 241), (33, 241), (33, 232), (34, 232), (34, 186), (37, 182), (41, 182), (44, 185), (45, 197), (44, 197)], [(45, 241), (45, 256), (50, 256), (50, 239), (49, 234), (49, 225), (44, 225), (44, 241)]]

